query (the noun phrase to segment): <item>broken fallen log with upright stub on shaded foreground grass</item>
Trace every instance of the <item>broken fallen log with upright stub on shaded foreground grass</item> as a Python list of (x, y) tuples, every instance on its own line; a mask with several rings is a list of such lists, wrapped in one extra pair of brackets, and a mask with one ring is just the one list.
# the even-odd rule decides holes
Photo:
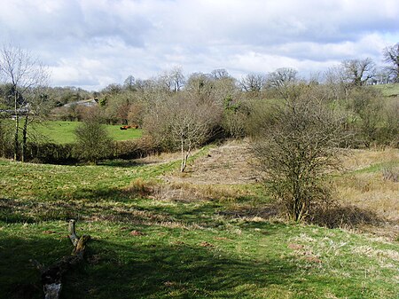
[(42, 284), (45, 299), (59, 299), (62, 289), (62, 275), (72, 268), (75, 264), (79, 264), (83, 260), (86, 243), (90, 240), (90, 235), (82, 235), (78, 237), (75, 232), (76, 222), (72, 219), (68, 224), (69, 239), (74, 245), (71, 256), (64, 256), (55, 264), (44, 268), (42, 264), (34, 261), (36, 268), (42, 272)]

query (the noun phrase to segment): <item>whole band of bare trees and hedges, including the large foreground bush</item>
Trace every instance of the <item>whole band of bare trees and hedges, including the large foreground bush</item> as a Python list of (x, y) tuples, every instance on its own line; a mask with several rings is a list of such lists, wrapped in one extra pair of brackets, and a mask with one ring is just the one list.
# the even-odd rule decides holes
[[(339, 168), (343, 149), (399, 147), (398, 97), (383, 97), (372, 86), (398, 83), (399, 43), (384, 50), (388, 66), (382, 81), (376, 79), (372, 59), (344, 60), (308, 80), (289, 67), (240, 79), (225, 69), (186, 78), (176, 67), (152, 79), (130, 75), (123, 84), (110, 84), (91, 94), (92, 106), (60, 105), (90, 96), (84, 90), (49, 89), (46, 69), (27, 52), (4, 48), (0, 54), (3, 114), (11, 111), (14, 118), (13, 129), (0, 122), (0, 150), (14, 160), (26, 160), (27, 146), (35, 152), (30, 158), (40, 152), (57, 160), (59, 147), (41, 147), (28, 134), (30, 123), (46, 118), (82, 121), (76, 143), (64, 146), (63, 155), (97, 163), (178, 150), (182, 172), (193, 148), (215, 139), (249, 137), (265, 185), (286, 216), (301, 221), (329, 205), (325, 177)], [(135, 124), (144, 138), (114, 143), (105, 123)]]

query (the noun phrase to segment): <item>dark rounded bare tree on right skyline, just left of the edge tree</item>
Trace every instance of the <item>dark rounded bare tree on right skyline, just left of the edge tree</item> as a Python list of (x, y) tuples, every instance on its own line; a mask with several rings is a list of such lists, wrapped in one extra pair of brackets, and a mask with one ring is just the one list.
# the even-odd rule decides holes
[(376, 66), (372, 59), (349, 59), (342, 62), (348, 83), (364, 86), (376, 75)]

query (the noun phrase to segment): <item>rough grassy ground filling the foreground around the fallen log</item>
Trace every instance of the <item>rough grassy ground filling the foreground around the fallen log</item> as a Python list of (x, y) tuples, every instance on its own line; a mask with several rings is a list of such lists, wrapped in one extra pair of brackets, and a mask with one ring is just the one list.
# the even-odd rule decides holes
[[(174, 155), (98, 166), (0, 160), (0, 297), (43, 297), (29, 260), (50, 265), (70, 254), (70, 218), (93, 240), (66, 273), (63, 298), (399, 296), (397, 239), (268, 217), (270, 199), (245, 159), (219, 159), (242, 148), (204, 148), (186, 174)], [(336, 184), (344, 192), (364, 174), (380, 179), (397, 154), (352, 153)], [(397, 200), (397, 183), (379, 184)], [(347, 200), (365, 190), (353, 185)]]

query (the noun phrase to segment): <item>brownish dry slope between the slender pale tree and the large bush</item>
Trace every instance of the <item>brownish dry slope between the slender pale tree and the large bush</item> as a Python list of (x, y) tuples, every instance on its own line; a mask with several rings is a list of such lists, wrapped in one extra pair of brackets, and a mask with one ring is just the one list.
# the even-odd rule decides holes
[(171, 183), (239, 185), (258, 181), (253, 156), (246, 141), (229, 141), (195, 161), (182, 173), (163, 177)]

